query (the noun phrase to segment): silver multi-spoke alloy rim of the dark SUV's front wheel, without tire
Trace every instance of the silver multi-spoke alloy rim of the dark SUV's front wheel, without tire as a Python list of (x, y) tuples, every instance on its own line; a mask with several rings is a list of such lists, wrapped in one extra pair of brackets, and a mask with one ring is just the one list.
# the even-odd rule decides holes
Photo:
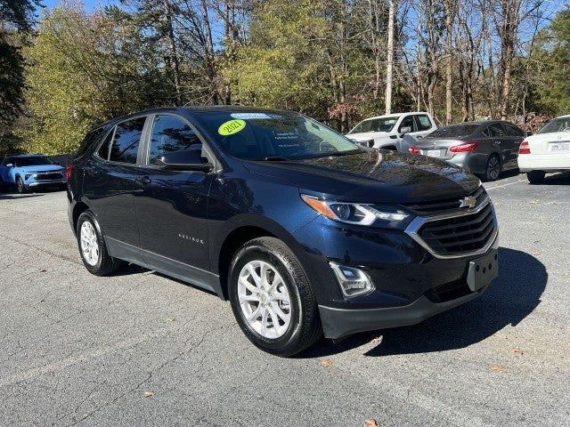
[(269, 262), (254, 260), (243, 266), (238, 298), (248, 326), (257, 334), (276, 339), (289, 329), (289, 290), (279, 271)]

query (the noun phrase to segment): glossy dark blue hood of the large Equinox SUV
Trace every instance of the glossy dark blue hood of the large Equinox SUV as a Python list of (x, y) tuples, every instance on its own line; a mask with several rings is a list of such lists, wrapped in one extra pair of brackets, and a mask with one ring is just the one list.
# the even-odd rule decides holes
[(244, 162), (253, 173), (293, 182), (318, 197), (367, 203), (408, 203), (464, 197), (480, 181), (459, 167), (391, 150), (287, 162)]

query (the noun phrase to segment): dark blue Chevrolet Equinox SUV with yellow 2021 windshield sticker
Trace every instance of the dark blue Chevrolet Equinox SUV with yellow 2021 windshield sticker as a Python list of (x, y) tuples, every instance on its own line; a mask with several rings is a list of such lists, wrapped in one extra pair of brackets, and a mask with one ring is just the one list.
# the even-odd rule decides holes
[(67, 175), (87, 270), (133, 262), (214, 292), (281, 356), (322, 333), (418, 323), (497, 276), (497, 221), (475, 176), (289, 111), (121, 117), (87, 134)]

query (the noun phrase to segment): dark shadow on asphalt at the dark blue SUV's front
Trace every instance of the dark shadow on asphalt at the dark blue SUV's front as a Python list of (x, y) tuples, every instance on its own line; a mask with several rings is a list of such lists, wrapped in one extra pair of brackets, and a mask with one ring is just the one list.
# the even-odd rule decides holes
[(322, 340), (299, 357), (330, 356), (368, 342), (377, 345), (366, 356), (454, 350), (483, 341), (505, 326), (517, 326), (541, 302), (548, 273), (531, 254), (501, 247), (499, 256), (499, 278), (479, 298), (418, 325), (356, 334), (337, 344)]

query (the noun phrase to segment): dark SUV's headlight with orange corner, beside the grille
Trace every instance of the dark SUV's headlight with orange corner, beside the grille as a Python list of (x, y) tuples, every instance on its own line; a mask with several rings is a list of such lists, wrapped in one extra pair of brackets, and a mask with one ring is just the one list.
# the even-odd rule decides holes
[(303, 201), (316, 212), (330, 220), (348, 224), (374, 225), (388, 229), (403, 230), (411, 215), (395, 206), (368, 205), (361, 203), (336, 202), (301, 195)]

